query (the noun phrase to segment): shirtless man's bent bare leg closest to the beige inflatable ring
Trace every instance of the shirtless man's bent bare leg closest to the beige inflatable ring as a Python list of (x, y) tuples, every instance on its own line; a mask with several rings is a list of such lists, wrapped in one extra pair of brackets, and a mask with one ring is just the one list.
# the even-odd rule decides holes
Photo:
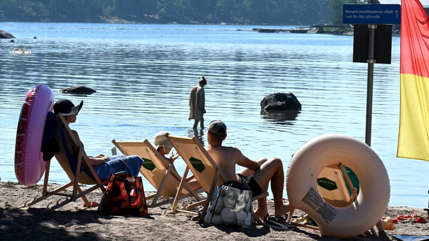
[(253, 175), (262, 190), (268, 190), (271, 181), (271, 191), (274, 197), (274, 215), (281, 216), (290, 211), (289, 205), (283, 204), (284, 173), (283, 164), (277, 157), (272, 157), (263, 163)]

